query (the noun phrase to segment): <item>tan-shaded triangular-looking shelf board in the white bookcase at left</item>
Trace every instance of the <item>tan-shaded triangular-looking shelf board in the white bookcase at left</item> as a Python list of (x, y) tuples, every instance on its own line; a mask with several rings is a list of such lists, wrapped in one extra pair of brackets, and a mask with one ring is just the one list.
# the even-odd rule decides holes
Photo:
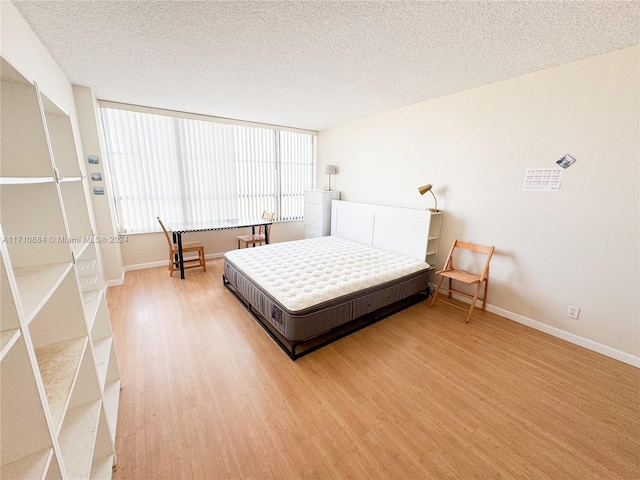
[(71, 386), (86, 345), (87, 337), (80, 337), (36, 348), (36, 358), (55, 431), (58, 431), (64, 417)]

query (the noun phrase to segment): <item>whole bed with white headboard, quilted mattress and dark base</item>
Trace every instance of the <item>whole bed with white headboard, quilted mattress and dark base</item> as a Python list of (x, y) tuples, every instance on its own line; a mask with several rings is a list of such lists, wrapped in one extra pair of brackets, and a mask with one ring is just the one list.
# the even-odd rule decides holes
[(332, 202), (332, 235), (233, 250), (224, 285), (293, 360), (426, 298), (428, 212)]

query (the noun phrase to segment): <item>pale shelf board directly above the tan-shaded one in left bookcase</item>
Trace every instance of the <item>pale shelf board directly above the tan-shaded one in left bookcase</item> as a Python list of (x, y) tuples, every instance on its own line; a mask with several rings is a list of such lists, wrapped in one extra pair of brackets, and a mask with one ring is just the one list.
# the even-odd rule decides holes
[(26, 323), (38, 313), (71, 267), (71, 262), (65, 262), (14, 270)]

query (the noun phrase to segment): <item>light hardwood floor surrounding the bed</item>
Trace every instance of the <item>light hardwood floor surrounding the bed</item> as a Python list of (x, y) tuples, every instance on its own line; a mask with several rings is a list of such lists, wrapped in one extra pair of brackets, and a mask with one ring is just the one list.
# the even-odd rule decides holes
[(639, 369), (426, 301), (292, 362), (221, 275), (109, 289), (115, 479), (640, 478)]

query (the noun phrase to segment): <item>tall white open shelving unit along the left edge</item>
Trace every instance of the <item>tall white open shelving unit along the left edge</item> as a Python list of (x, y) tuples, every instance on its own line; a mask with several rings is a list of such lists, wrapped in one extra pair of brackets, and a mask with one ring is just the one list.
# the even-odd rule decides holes
[(0, 477), (110, 478), (120, 374), (69, 116), (1, 60)]

